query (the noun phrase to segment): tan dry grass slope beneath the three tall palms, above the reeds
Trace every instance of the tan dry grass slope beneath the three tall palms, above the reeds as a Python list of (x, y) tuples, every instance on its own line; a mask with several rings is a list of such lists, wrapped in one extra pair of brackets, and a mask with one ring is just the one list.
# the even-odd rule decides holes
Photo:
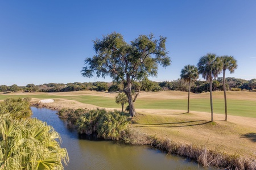
[[(214, 119), (211, 123), (210, 113), (202, 112), (143, 113), (134, 118), (133, 126), (160, 139), (256, 158), (256, 118), (229, 116), (229, 121), (222, 121), (223, 114), (214, 114)], [(251, 138), (246, 137), (249, 133)]]

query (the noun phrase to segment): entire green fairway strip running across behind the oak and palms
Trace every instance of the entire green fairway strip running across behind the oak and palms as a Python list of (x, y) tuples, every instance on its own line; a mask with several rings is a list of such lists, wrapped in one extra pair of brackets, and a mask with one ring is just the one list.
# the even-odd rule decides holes
[[(98, 107), (121, 108), (115, 99), (100, 96), (55, 96), (46, 95), (0, 95), (0, 100), (7, 97), (34, 97), (38, 99), (68, 99), (81, 103), (93, 104)], [(127, 104), (126, 104), (127, 105)], [(175, 109), (187, 110), (187, 99), (137, 99), (135, 108), (140, 109)], [(191, 99), (190, 111), (210, 112), (210, 99)], [(244, 117), (256, 117), (256, 102), (251, 100), (228, 100), (228, 114)], [(224, 99), (213, 99), (213, 112), (224, 114)]]

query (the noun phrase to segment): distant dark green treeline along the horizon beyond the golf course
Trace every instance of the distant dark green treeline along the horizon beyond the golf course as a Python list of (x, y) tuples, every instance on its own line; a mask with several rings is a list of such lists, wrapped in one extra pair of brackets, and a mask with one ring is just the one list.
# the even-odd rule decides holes
[[(256, 79), (244, 80), (237, 78), (226, 78), (226, 90), (232, 91), (255, 91)], [(222, 78), (213, 80), (212, 83), (213, 91), (221, 91)], [(1, 85), (1, 92), (17, 92), (23, 90), (24, 92), (68, 92), (68, 91), (122, 91), (122, 83), (107, 83), (107, 82), (85, 82), (85, 83), (48, 83), (48, 84), (27, 84), (27, 86), (17, 86), (13, 84), (11, 86)], [(144, 79), (140, 82), (133, 83), (134, 91), (188, 91), (188, 83), (184, 82), (183, 79), (177, 79), (173, 81), (154, 82), (148, 79)], [(206, 81), (197, 80), (192, 84), (191, 92), (201, 93), (209, 91), (209, 83)]]

